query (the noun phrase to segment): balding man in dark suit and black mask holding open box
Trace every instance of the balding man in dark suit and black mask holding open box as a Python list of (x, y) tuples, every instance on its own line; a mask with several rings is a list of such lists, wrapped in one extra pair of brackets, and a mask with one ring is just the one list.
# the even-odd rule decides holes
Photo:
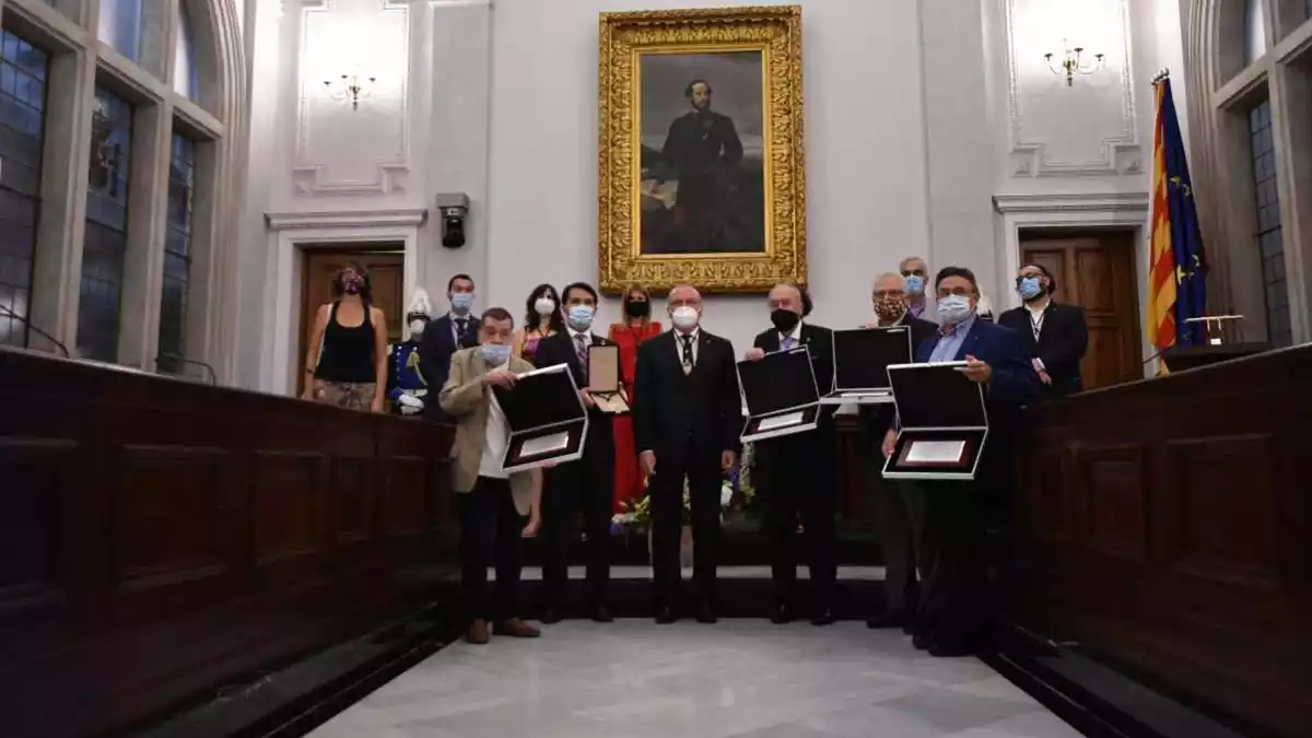
[[(796, 286), (775, 285), (769, 298), (774, 327), (756, 336), (747, 360), (760, 361), (768, 353), (804, 345), (811, 352), (811, 366), (823, 395), (833, 387), (833, 331), (802, 322), (808, 302)], [(834, 621), (838, 563), (833, 525), (833, 406), (821, 408), (820, 424), (813, 431), (756, 444), (757, 481), (765, 510), (762, 528), (774, 546), (770, 569), (775, 604), (770, 621), (775, 624), (794, 619), (799, 516), (811, 573), (811, 622), (829, 625)]]

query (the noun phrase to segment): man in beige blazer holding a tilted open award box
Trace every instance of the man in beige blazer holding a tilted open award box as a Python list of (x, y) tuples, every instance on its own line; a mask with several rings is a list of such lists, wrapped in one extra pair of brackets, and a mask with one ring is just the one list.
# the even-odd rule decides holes
[[(488, 642), (492, 633), (535, 638), (541, 632), (517, 616), (522, 536), (541, 525), (542, 471), (501, 471), (510, 431), (492, 386), (514, 386), (533, 365), (510, 356), (514, 319), (491, 307), (479, 319), (479, 345), (451, 355), (451, 373), (438, 404), (457, 420), (453, 487), (459, 495), (461, 580), (470, 608), (464, 640)], [(527, 525), (523, 517), (529, 517)], [(496, 601), (488, 597), (488, 566), (496, 562)]]

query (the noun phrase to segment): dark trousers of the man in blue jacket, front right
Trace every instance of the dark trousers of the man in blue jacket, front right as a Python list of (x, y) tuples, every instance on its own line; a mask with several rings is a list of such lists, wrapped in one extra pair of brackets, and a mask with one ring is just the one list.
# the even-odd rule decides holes
[(916, 632), (943, 647), (968, 647), (988, 622), (987, 487), (938, 481), (908, 481), (905, 486), (924, 575)]

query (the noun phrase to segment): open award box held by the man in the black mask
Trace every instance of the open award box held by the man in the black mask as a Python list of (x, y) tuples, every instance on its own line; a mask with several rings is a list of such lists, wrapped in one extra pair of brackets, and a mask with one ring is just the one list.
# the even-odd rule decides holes
[(739, 386), (747, 402), (743, 443), (815, 429), (820, 422), (820, 393), (806, 345), (739, 361)]

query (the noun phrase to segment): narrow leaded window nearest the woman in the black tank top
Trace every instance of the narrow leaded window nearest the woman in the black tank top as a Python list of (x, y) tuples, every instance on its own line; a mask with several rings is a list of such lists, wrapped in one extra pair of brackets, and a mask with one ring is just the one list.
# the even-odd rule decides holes
[(164, 292), (160, 295), (159, 368), (181, 373), (186, 356), (186, 293), (192, 265), (192, 198), (195, 193), (195, 143), (173, 134), (168, 175), (168, 235), (164, 243)]

